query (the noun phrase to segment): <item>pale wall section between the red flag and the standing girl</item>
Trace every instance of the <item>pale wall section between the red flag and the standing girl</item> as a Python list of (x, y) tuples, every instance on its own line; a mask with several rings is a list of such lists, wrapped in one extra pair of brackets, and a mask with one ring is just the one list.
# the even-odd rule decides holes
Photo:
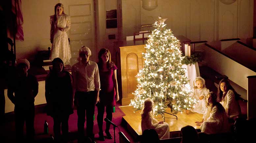
[(34, 59), (37, 50), (50, 46), (50, 15), (58, 0), (23, 0), (24, 41), (16, 41), (16, 57)]

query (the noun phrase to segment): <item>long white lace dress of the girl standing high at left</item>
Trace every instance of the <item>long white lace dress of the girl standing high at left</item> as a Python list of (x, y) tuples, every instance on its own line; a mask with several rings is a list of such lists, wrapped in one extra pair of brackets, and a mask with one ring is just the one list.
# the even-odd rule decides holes
[[(57, 23), (54, 20), (55, 15), (50, 16), (51, 24), (51, 54), (50, 60), (61, 58), (63, 63), (69, 63), (71, 59), (71, 50), (67, 31), (70, 29), (71, 20), (67, 14), (62, 14), (58, 17)], [(59, 28), (63, 28), (61, 31)]]

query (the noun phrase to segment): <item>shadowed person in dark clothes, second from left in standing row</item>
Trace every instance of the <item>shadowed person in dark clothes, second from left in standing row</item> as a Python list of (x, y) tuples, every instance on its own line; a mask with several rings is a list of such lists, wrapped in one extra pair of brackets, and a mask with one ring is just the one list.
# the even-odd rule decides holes
[(60, 58), (52, 61), (52, 70), (45, 80), (45, 98), (47, 102), (47, 115), (53, 118), (53, 131), (56, 141), (68, 141), (69, 116), (73, 114), (74, 92), (73, 78), (64, 70), (64, 63)]

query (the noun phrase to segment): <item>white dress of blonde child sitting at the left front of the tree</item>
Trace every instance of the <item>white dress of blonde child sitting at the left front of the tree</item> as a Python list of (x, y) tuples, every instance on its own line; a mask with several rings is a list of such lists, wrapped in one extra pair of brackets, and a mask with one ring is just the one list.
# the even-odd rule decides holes
[(146, 129), (155, 129), (159, 139), (170, 138), (170, 129), (168, 123), (158, 124), (158, 121), (152, 116), (147, 115), (141, 120), (142, 133)]

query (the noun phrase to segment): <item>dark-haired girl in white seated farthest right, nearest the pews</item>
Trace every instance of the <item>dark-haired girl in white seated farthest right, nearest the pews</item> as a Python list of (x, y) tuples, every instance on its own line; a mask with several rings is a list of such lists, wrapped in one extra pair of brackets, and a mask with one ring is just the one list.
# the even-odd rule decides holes
[(236, 100), (238, 94), (226, 79), (220, 80), (219, 82), (218, 98), (229, 118), (241, 115), (241, 108)]

